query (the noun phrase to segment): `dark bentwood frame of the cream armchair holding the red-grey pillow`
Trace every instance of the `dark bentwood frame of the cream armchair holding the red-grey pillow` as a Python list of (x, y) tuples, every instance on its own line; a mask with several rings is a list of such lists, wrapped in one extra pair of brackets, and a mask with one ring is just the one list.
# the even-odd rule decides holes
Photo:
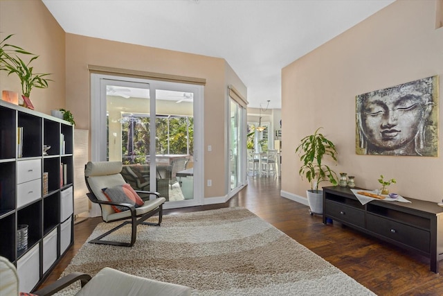
[[(102, 165), (106, 165), (106, 162), (100, 162)], [(115, 163), (115, 162), (114, 162)], [(136, 191), (137, 193), (146, 193), (149, 195), (155, 195), (156, 196), (156, 200), (147, 200), (145, 201), (145, 205), (143, 205), (142, 207), (147, 207), (147, 208), (152, 208), (148, 211), (142, 211), (141, 214), (137, 214), (137, 209), (134, 207), (134, 205), (132, 204), (127, 204), (127, 203), (118, 203), (118, 202), (111, 202), (111, 201), (105, 201), (105, 200), (100, 200), (97, 198), (96, 194), (94, 193), (93, 189), (91, 188), (91, 185), (89, 184), (89, 177), (90, 174), (87, 173), (88, 168), (87, 166), (89, 164), (92, 164), (91, 162), (89, 162), (86, 166), (85, 166), (85, 174), (84, 174), (84, 180), (86, 182), (87, 188), (89, 190), (89, 193), (87, 193), (87, 196), (89, 198), (89, 200), (91, 200), (91, 202), (99, 204), (100, 205), (100, 209), (102, 210), (102, 220), (105, 223), (109, 223), (109, 222), (115, 222), (115, 221), (119, 221), (119, 220), (124, 220), (123, 223), (120, 223), (120, 225), (117, 225), (116, 227), (112, 228), (111, 230), (109, 230), (108, 232), (105, 232), (104, 234), (101, 234), (100, 236), (93, 238), (91, 241), (89, 241), (89, 243), (97, 243), (97, 244), (102, 244), (102, 245), (118, 245), (118, 246), (123, 246), (123, 247), (132, 247), (132, 245), (134, 245), (134, 243), (136, 242), (136, 236), (137, 236), (137, 226), (138, 225), (154, 225), (154, 226), (159, 226), (161, 224), (161, 220), (163, 218), (163, 203), (165, 202), (165, 198), (162, 198), (160, 196), (160, 193), (158, 192), (153, 192), (153, 191)], [(96, 162), (97, 164), (97, 162)], [(111, 166), (115, 166), (115, 164), (111, 164)], [(118, 165), (117, 165), (118, 166)], [(118, 171), (118, 172), (117, 172)], [(120, 175), (121, 171), (121, 162), (120, 162), (120, 169), (116, 170), (114, 172), (113, 175)], [(121, 177), (121, 175), (120, 175)], [(123, 177), (121, 177), (121, 179), (123, 180)], [(124, 180), (123, 180), (124, 182)], [(111, 220), (105, 220), (104, 217), (104, 206), (120, 206), (120, 207), (125, 207), (128, 209), (128, 211), (124, 211), (121, 213), (127, 213), (124, 216), (122, 216), (121, 218), (113, 218)], [(141, 208), (138, 208), (141, 209)], [(121, 214), (119, 213), (119, 214)], [(158, 223), (148, 223), (145, 222), (145, 220), (147, 218), (150, 218), (152, 216), (154, 216), (155, 214), (159, 214), (159, 222)], [(128, 220), (128, 218), (130, 218), (130, 220)], [(132, 226), (132, 231), (131, 231), (131, 241), (130, 243), (125, 243), (125, 242), (121, 242), (121, 241), (107, 241), (104, 240), (102, 238), (104, 238), (105, 236), (108, 236), (109, 234), (111, 234), (112, 232), (115, 232), (116, 230), (120, 229), (121, 227), (127, 225), (127, 224), (131, 224)]]

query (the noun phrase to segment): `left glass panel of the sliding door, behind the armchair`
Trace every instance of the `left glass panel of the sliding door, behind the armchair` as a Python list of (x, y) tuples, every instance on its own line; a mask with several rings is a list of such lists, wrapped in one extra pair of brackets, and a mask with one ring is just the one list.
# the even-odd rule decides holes
[[(150, 89), (147, 84), (108, 80), (107, 160), (123, 162), (122, 175), (136, 190), (150, 182)], [(129, 86), (130, 85), (130, 86)], [(139, 86), (139, 87), (136, 87)], [(149, 195), (140, 194), (142, 198)]]

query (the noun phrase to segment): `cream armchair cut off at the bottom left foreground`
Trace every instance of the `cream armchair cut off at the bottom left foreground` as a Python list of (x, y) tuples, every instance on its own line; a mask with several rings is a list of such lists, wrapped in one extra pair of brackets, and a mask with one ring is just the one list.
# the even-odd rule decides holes
[(32, 294), (19, 293), (20, 279), (17, 270), (8, 259), (2, 256), (0, 256), (0, 278), (1, 296), (49, 296), (62, 291), (76, 281), (80, 281), (78, 287), (80, 290), (75, 291), (77, 296), (187, 296), (191, 292), (191, 289), (186, 286), (136, 277), (113, 268), (103, 268), (93, 277), (82, 272), (72, 272)]

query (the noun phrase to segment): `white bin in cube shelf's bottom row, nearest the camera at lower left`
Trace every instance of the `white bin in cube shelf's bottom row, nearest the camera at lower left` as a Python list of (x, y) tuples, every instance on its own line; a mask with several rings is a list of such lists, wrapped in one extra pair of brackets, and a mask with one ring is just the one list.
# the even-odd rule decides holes
[(17, 261), (19, 291), (29, 293), (40, 279), (39, 245), (35, 245)]

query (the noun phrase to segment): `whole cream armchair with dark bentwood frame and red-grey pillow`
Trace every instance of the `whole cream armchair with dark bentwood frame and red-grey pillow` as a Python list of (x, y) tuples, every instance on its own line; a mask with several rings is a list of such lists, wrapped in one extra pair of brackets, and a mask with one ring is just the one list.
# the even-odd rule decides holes
[[(89, 243), (132, 247), (136, 241), (137, 225), (160, 225), (161, 223), (165, 198), (162, 198), (158, 192), (135, 191), (125, 182), (120, 174), (121, 171), (121, 162), (88, 162), (84, 167), (84, 180), (89, 189), (88, 198), (91, 202), (100, 205), (102, 220), (105, 223), (125, 220)], [(137, 193), (147, 193), (155, 198), (143, 201)], [(147, 218), (157, 213), (159, 213), (159, 223), (145, 222)], [(130, 243), (102, 240), (127, 224), (132, 225)]]

